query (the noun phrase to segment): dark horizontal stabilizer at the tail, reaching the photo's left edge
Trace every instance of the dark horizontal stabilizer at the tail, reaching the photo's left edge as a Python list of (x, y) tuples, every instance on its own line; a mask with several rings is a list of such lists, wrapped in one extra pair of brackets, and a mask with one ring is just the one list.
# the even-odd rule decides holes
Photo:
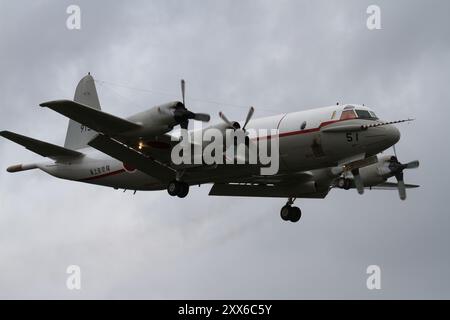
[(36, 140), (9, 131), (1, 131), (0, 136), (20, 144), (34, 153), (54, 160), (59, 160), (61, 158), (76, 158), (83, 155), (77, 151), (69, 150), (51, 143)]

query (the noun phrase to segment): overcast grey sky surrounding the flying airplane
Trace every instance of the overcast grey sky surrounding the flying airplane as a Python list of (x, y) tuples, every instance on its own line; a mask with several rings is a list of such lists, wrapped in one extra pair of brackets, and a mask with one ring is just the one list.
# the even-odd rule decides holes
[[(81, 7), (81, 30), (66, 8)], [(381, 8), (369, 31), (366, 9)], [(62, 145), (87, 72), (103, 110), (128, 116), (179, 98), (242, 119), (364, 103), (399, 128), (422, 185), (300, 200), (114, 191), (6, 168), (42, 158), (0, 140), (0, 298), (450, 298), (448, 1), (0, 1), (0, 129)], [(168, 93), (166, 95), (160, 93)], [(195, 100), (194, 100), (195, 98)], [(189, 99), (191, 99), (189, 101)], [(212, 103), (214, 101), (215, 103)], [(389, 150), (391, 152), (391, 150)], [(382, 290), (366, 288), (379, 265)], [(66, 288), (79, 265), (82, 290)]]

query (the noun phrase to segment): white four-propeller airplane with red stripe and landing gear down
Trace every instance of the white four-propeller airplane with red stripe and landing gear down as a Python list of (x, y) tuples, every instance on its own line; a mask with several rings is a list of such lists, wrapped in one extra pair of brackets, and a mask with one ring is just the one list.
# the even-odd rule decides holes
[[(296, 199), (324, 199), (332, 189), (397, 189), (402, 200), (406, 189), (404, 170), (419, 161), (401, 163), (395, 152), (400, 140), (396, 123), (382, 121), (364, 105), (333, 106), (253, 119), (254, 108), (243, 122), (220, 113), (220, 130), (276, 129), (279, 170), (261, 175), (254, 165), (174, 165), (171, 150), (177, 143), (173, 130), (187, 129), (190, 120), (209, 122), (210, 116), (186, 108), (185, 81), (182, 101), (152, 107), (126, 119), (101, 110), (95, 80), (89, 73), (77, 85), (73, 100), (40, 104), (69, 118), (64, 147), (10, 131), (0, 136), (49, 158), (46, 162), (14, 165), (8, 172), (40, 169), (54, 177), (114, 189), (167, 190), (185, 198), (192, 186), (212, 184), (211, 196), (286, 198), (280, 216), (298, 222)], [(190, 131), (191, 132), (191, 131)], [(180, 138), (178, 138), (179, 140)], [(246, 140), (247, 141), (247, 140)], [(179, 142), (179, 141), (178, 141)], [(394, 155), (379, 155), (394, 147)], [(256, 166), (258, 168), (258, 166)], [(389, 182), (395, 177), (397, 182)]]

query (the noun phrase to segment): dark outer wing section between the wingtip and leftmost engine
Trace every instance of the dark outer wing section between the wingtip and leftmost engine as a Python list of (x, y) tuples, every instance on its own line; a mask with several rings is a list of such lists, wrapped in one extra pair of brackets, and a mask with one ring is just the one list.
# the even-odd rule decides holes
[(121, 133), (141, 128), (139, 124), (71, 100), (44, 102), (40, 106), (52, 109), (94, 131), (106, 135), (120, 135)]

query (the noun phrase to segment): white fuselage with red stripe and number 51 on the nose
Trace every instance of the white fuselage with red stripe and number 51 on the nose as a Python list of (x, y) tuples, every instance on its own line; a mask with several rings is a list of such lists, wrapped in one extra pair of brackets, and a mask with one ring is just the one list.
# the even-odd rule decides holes
[[(336, 166), (344, 159), (356, 155), (375, 155), (395, 144), (398, 130), (391, 126), (371, 128), (352, 133), (325, 133), (322, 128), (338, 122), (366, 124), (375, 120), (341, 119), (345, 106), (331, 106), (294, 113), (257, 118), (249, 122), (251, 129), (278, 129), (280, 146), (280, 172), (295, 173)], [(357, 106), (361, 110), (370, 110)], [(148, 174), (127, 168), (121, 161), (93, 148), (79, 150), (84, 157), (71, 162), (38, 164), (38, 167), (58, 178), (129, 190), (160, 190), (166, 188)], [(236, 166), (236, 165), (234, 165)], [(190, 184), (212, 183), (226, 179), (235, 170), (217, 169), (199, 172)]]

